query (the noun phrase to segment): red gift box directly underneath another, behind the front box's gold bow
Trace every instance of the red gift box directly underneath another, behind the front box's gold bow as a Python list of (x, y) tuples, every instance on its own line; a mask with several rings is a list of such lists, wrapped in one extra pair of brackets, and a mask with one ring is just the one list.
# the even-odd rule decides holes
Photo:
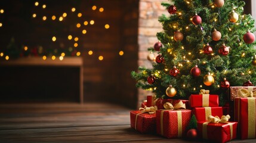
[(207, 120), (209, 115), (218, 117), (223, 115), (222, 107), (196, 107), (193, 111), (198, 122)]

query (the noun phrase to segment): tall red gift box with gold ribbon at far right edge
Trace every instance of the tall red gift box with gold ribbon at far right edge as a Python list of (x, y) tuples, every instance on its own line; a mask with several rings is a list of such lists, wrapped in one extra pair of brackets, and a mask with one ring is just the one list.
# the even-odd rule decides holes
[(235, 98), (234, 112), (240, 137), (256, 138), (256, 98)]

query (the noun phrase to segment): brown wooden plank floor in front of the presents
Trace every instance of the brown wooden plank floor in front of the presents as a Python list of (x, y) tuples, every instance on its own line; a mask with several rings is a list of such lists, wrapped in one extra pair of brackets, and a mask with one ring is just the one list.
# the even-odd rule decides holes
[[(129, 125), (129, 109), (118, 105), (29, 103), (0, 105), (0, 142), (203, 141), (138, 133)], [(256, 142), (256, 139), (233, 142)]]

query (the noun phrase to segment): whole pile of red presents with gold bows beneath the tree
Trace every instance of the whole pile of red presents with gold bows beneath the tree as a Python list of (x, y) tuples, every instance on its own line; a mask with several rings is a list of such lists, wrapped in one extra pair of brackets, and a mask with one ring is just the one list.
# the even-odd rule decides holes
[(227, 142), (256, 138), (256, 86), (231, 86), (229, 104), (219, 106), (218, 95), (202, 89), (189, 100), (147, 96), (138, 111), (131, 111), (131, 127), (141, 133), (157, 133), (166, 138), (187, 138), (187, 127), (196, 117), (201, 139)]

